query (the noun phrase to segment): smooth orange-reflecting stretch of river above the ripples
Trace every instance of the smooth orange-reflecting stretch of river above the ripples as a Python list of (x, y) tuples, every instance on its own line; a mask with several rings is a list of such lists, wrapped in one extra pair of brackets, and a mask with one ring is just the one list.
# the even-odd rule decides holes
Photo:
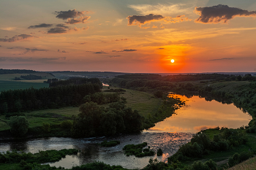
[(181, 98), (186, 101), (186, 105), (177, 109), (175, 115), (168, 117), (164, 121), (157, 123), (151, 131), (165, 132), (191, 132), (196, 133), (207, 128), (227, 127), (239, 128), (248, 125), (252, 116), (247, 112), (242, 112), (234, 104), (222, 104), (218, 101), (206, 101), (199, 96), (176, 95), (170, 93), (169, 96)]

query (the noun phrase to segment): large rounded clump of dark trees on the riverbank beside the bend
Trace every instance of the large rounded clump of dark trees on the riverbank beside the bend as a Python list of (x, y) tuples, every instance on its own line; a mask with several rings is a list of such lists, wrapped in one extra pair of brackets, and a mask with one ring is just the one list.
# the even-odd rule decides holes
[(130, 134), (143, 130), (144, 117), (137, 110), (126, 107), (124, 100), (110, 103), (106, 108), (92, 101), (86, 102), (79, 110), (79, 115), (73, 117), (74, 137)]

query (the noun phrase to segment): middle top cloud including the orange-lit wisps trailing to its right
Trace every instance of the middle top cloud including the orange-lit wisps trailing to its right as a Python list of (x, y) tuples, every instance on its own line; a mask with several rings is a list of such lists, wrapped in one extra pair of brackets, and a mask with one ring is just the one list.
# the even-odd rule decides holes
[[(128, 16), (128, 26), (140, 26), (146, 23), (151, 23), (159, 20), (164, 20), (165, 23), (180, 23), (183, 21), (188, 21), (189, 18), (185, 17), (185, 15), (178, 15), (176, 18), (171, 18), (171, 17), (163, 17), (162, 15), (146, 15), (146, 16), (138, 16), (138, 15), (133, 15), (133, 16)], [(149, 26), (143, 27), (143, 28), (150, 28)], [(162, 27), (161, 27), (162, 28)]]

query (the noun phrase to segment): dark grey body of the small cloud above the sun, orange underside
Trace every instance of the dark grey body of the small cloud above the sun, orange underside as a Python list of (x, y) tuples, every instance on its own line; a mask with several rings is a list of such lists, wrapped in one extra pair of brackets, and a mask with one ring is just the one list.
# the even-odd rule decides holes
[(150, 23), (151, 21), (162, 20), (162, 19), (164, 19), (162, 15), (153, 15), (153, 14), (146, 15), (146, 16), (130, 15), (127, 17), (129, 26)]

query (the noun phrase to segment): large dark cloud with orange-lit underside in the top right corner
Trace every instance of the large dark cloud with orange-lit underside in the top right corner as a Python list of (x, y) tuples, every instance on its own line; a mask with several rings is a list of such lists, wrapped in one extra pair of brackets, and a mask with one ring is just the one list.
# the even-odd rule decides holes
[(247, 11), (236, 7), (219, 4), (213, 7), (195, 7), (194, 12), (200, 15), (195, 23), (227, 23), (235, 17), (256, 17), (256, 11)]

